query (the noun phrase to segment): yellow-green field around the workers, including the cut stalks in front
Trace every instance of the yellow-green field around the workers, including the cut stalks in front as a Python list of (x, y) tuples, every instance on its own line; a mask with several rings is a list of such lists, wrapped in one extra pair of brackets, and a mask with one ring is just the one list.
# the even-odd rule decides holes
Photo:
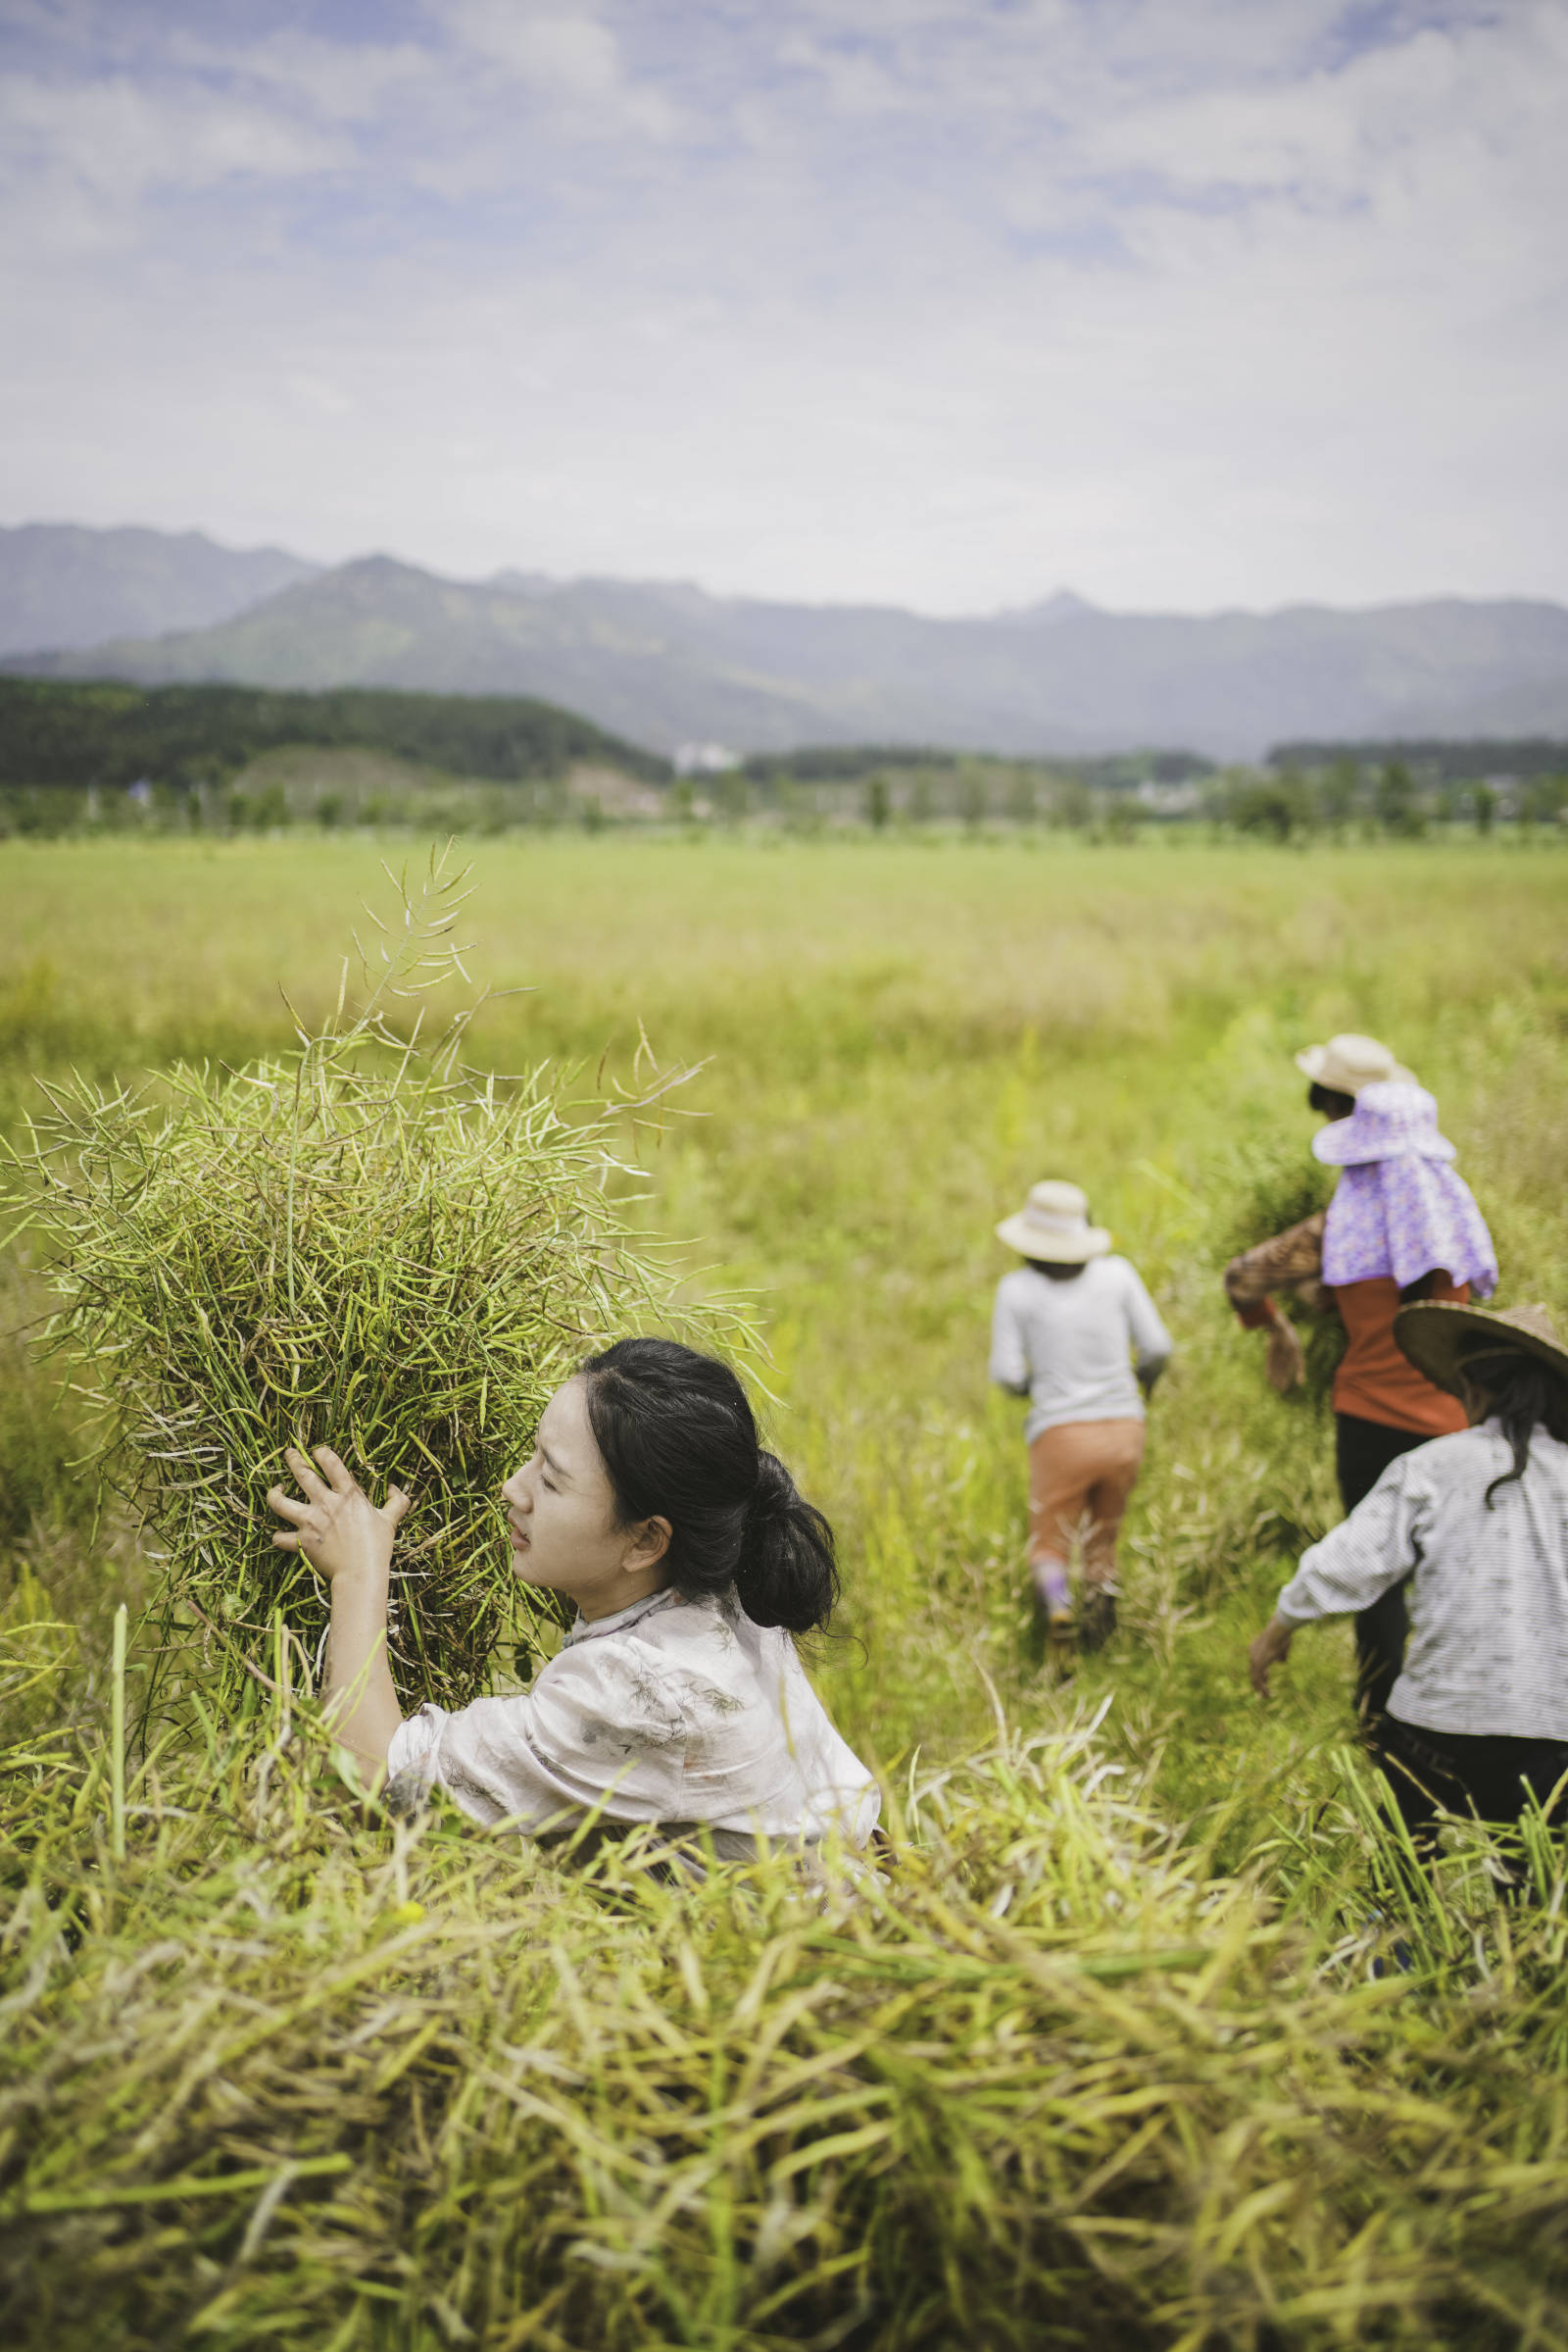
[[(364, 840), (0, 847), (0, 1115), (31, 1073), (287, 1042)], [(256, 1686), (115, 1804), (113, 1606), (155, 1573), (7, 1338), (0, 2296), (38, 2345), (1568, 2345), (1561, 1860), (1401, 1879), (1342, 1628), (1244, 1644), (1335, 1515), (1326, 1409), (1218, 1289), (1300, 1214), (1291, 1049), (1389, 1037), (1568, 1315), (1568, 861), (1443, 842), (498, 840), (477, 1051), (703, 1063), (637, 1216), (748, 1289), (839, 1529), (811, 1661), (886, 1884), (670, 1889), (364, 1823)], [(1178, 1341), (1124, 1632), (1030, 1646), (992, 1223), (1074, 1176)], [(26, 1244), (24, 1244), (26, 1251)], [(19, 1254), (7, 1324), (38, 1310)], [(129, 1686), (139, 1663), (132, 1651)], [(277, 1675), (273, 1675), (277, 1682)], [(287, 1682), (287, 1677), (284, 1677)], [(1375, 1922), (1382, 1912), (1382, 1926)], [(1378, 1940), (1410, 1973), (1371, 1978)]]

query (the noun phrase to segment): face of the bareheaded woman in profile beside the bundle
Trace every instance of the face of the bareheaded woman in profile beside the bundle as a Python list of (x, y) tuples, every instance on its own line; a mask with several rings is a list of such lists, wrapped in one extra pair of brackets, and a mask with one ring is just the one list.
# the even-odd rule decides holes
[(534, 1454), (501, 1489), (512, 1573), (564, 1592), (585, 1618), (614, 1616), (665, 1583), (668, 1519), (616, 1526), (616, 1496), (588, 1418), (588, 1390), (567, 1381), (545, 1404)]

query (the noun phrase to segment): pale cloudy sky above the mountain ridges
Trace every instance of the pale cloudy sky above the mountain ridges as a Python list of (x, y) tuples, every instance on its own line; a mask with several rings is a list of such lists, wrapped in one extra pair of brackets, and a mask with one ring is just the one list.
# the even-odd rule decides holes
[(1568, 0), (0, 0), (0, 520), (1568, 600)]

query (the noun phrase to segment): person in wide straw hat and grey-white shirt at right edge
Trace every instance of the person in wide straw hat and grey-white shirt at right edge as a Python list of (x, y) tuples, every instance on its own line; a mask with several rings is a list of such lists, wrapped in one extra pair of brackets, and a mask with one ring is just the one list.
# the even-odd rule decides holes
[(1413, 1578), (1380, 1762), (1427, 1856), (1439, 1811), (1568, 1818), (1568, 1348), (1544, 1308), (1408, 1305), (1394, 1338), (1467, 1425), (1302, 1552), (1248, 1663), (1267, 1698), (1298, 1625)]

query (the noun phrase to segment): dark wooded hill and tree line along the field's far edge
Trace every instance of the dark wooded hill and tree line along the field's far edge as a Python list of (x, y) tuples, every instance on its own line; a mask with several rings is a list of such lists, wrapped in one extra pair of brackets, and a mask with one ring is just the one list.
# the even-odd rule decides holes
[[(310, 753), (395, 762), (369, 779)], [(273, 755), (273, 757), (268, 757)], [(303, 757), (296, 757), (303, 755)], [(609, 769), (609, 800), (590, 797)], [(625, 779), (632, 779), (625, 786)], [(505, 833), (515, 826), (778, 826), (788, 833), (959, 826), (1128, 840), (1208, 826), (1274, 842), (1415, 840), (1427, 828), (1568, 826), (1568, 746), (1300, 743), (1262, 767), (1187, 750), (1006, 760), (936, 746), (759, 753), (668, 786), (670, 764), (571, 710), (522, 696), (324, 694), (0, 677), (0, 833), (270, 833), (289, 823)]]

